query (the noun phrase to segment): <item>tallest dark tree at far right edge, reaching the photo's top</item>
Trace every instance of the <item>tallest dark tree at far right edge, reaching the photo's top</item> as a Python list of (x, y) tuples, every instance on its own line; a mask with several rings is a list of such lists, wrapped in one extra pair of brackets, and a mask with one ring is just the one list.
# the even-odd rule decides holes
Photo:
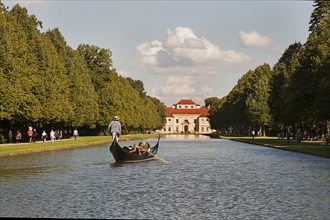
[(326, 127), (330, 120), (330, 3), (316, 1), (315, 7), (311, 33), (299, 54), (299, 66), (289, 81), (291, 100), (295, 102), (288, 106), (298, 116), (295, 122)]

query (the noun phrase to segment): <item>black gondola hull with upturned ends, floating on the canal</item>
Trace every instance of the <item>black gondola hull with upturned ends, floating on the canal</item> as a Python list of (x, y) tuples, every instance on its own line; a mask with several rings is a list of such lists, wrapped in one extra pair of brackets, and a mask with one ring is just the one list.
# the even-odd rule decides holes
[[(150, 148), (150, 152), (154, 155), (157, 154), (158, 151), (159, 139), (160, 135), (158, 135), (157, 144)], [(112, 153), (116, 162), (142, 162), (155, 159), (155, 157), (150, 153), (129, 153), (119, 145), (117, 138), (112, 141), (110, 145), (110, 152)]]

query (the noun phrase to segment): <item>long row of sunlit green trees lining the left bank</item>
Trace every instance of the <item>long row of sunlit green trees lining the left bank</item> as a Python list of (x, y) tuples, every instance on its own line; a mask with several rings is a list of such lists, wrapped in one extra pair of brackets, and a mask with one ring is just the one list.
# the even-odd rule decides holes
[[(26, 8), (0, 1), (0, 128), (79, 127), (105, 131), (115, 115), (124, 132), (161, 128), (165, 105), (144, 91), (140, 80), (119, 76), (111, 51), (91, 45), (69, 47), (58, 29)], [(148, 115), (148, 117), (144, 117)]]

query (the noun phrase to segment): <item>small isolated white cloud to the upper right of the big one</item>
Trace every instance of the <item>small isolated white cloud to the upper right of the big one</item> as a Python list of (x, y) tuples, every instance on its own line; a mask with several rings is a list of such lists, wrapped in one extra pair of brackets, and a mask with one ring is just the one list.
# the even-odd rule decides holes
[(254, 30), (250, 31), (249, 33), (240, 31), (238, 34), (241, 40), (241, 44), (244, 47), (262, 48), (267, 47), (273, 43), (273, 39), (271, 37), (261, 35)]

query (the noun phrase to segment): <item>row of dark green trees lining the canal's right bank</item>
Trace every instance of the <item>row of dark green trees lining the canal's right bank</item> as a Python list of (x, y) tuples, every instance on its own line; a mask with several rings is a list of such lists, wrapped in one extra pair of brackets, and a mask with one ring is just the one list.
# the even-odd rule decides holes
[(271, 68), (248, 71), (224, 98), (210, 97), (211, 126), (247, 134), (330, 127), (330, 2), (316, 1), (305, 44), (293, 43)]

